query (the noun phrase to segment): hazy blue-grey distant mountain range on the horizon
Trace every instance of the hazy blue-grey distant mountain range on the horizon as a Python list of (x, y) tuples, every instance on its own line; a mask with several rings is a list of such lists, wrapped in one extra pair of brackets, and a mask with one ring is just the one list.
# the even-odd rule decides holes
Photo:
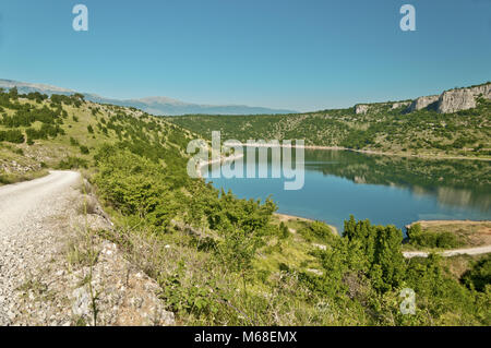
[[(26, 83), (12, 80), (0, 80), (0, 88), (10, 89), (17, 87), (19, 93), (27, 94), (39, 92), (43, 94), (71, 95), (79, 91), (61, 88), (57, 86)], [(79, 92), (80, 93), (80, 92)], [(202, 105), (185, 103), (167, 97), (147, 97), (141, 99), (111, 99), (92, 93), (82, 93), (86, 100), (112, 104), (124, 107), (135, 107), (143, 111), (157, 116), (179, 116), (179, 115), (273, 115), (273, 113), (296, 113), (295, 110), (271, 109), (264, 107), (251, 107), (246, 105)]]

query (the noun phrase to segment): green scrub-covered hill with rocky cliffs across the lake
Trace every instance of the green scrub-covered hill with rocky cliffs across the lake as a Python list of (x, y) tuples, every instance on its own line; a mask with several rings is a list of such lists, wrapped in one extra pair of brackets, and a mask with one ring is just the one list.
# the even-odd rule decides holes
[[(170, 122), (208, 139), (304, 140), (383, 153), (491, 157), (491, 83), (415, 100), (282, 116), (182, 116)], [(459, 100), (459, 103), (454, 103)]]

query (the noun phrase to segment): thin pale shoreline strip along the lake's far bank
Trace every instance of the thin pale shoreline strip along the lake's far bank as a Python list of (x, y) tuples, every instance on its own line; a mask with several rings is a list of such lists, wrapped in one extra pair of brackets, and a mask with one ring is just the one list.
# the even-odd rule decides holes
[(285, 145), (285, 144), (264, 144), (264, 143), (229, 143), (229, 146), (244, 146), (244, 147), (295, 147), (295, 148), (307, 148), (307, 149), (331, 149), (331, 151), (350, 151), (354, 153), (368, 154), (368, 155), (380, 155), (380, 156), (398, 156), (398, 157), (416, 157), (424, 159), (467, 159), (467, 160), (484, 160), (491, 161), (489, 157), (466, 157), (466, 156), (443, 156), (443, 155), (416, 155), (416, 154), (404, 154), (404, 153), (392, 153), (392, 152), (379, 152), (373, 149), (357, 149), (344, 146), (322, 146), (322, 145)]

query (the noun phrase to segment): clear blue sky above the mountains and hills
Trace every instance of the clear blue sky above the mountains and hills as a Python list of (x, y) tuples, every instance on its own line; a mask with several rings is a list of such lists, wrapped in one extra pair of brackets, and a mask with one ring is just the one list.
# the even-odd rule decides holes
[(296, 110), (412, 98), (491, 80), (491, 0), (2, 0), (0, 79)]

